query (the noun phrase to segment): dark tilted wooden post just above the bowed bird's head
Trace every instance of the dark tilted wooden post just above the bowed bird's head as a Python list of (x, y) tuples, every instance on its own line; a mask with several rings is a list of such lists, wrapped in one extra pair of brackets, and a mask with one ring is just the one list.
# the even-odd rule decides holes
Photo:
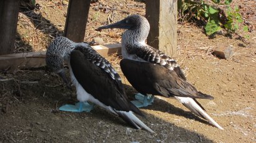
[(74, 42), (83, 42), (91, 0), (69, 0), (64, 36)]

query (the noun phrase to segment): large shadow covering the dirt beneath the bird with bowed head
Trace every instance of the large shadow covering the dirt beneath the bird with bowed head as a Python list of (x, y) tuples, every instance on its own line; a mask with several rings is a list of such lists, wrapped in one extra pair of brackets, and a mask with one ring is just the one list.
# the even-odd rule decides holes
[[(4, 142), (213, 142), (203, 134), (175, 126), (152, 114), (140, 119), (156, 134), (136, 130), (99, 107), (91, 113), (57, 111), (62, 104), (76, 103), (75, 91), (67, 90), (57, 75), (43, 70), (0, 76), (15, 79), (0, 84), (0, 140)], [(167, 106), (157, 100), (149, 108), (165, 111), (157, 108), (158, 104)], [(171, 108), (170, 114), (184, 112)], [(184, 114), (181, 116), (188, 113)]]

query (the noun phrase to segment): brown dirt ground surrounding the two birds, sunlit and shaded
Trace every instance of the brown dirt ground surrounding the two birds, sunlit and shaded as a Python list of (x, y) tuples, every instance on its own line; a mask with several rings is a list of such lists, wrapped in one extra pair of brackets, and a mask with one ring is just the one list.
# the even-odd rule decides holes
[[(36, 2), (41, 9), (19, 13), (15, 52), (46, 50), (51, 39), (63, 33), (65, 2)], [(209, 38), (202, 27), (186, 22), (178, 25), (179, 53), (175, 57), (190, 83), (214, 96), (213, 100), (199, 102), (224, 131), (198, 118), (178, 101), (160, 96), (154, 104), (141, 109), (145, 118), (140, 118), (156, 134), (136, 130), (97, 106), (90, 113), (58, 111), (63, 104), (77, 102), (75, 89), (68, 90), (59, 76), (42, 67), (0, 73), (0, 142), (256, 142), (256, 2), (233, 3), (240, 6), (251, 24), (248, 43), (237, 35), (230, 38), (223, 33)], [(84, 40), (97, 44), (95, 37), (101, 37), (104, 44), (121, 42), (122, 30), (94, 30), (126, 17), (126, 12), (118, 11), (121, 9), (145, 15), (145, 4), (140, 1), (99, 0), (91, 4)], [(235, 55), (229, 60), (214, 57), (212, 49), (220, 44), (233, 45)], [(132, 97), (136, 91), (121, 73), (121, 58), (112, 55), (108, 59)]]

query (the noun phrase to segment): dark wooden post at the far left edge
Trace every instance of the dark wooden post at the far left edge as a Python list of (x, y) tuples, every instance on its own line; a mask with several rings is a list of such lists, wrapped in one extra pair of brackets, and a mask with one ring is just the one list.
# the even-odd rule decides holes
[(19, 0), (0, 1), (0, 55), (13, 53)]

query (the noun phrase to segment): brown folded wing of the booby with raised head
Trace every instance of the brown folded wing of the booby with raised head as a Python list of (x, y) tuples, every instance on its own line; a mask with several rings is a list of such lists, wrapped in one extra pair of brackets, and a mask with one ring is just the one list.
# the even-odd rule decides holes
[(200, 94), (194, 86), (180, 78), (174, 70), (169, 70), (158, 64), (123, 59), (121, 60), (121, 69), (130, 84), (142, 94), (213, 98), (210, 95)]

